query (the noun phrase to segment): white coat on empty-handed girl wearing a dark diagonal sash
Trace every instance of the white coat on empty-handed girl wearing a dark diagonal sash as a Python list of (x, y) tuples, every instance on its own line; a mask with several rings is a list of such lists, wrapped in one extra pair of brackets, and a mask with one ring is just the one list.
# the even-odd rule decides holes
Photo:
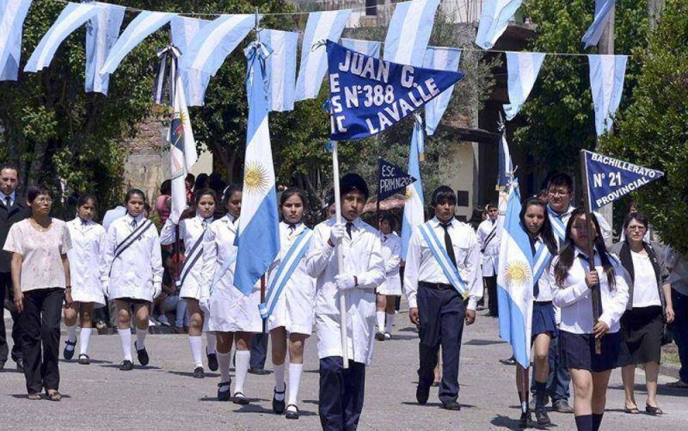
[[(141, 216), (138, 225), (149, 220)], [(100, 282), (107, 286), (109, 299), (131, 298), (153, 302), (156, 288), (162, 284), (160, 237), (155, 225), (147, 227), (116, 259), (115, 251), (133, 231), (131, 215), (114, 220), (107, 229), (103, 255), (100, 257)]]

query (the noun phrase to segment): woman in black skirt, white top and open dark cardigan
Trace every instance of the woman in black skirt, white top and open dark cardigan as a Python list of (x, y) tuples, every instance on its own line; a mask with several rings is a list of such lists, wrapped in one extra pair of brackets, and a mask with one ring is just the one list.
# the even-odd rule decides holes
[(638, 414), (634, 394), (636, 366), (645, 368), (647, 401), (645, 412), (662, 414), (657, 405), (657, 377), (662, 353), (664, 323), (674, 321), (671, 306), (671, 285), (662, 250), (643, 241), (647, 232), (647, 218), (641, 213), (630, 213), (623, 224), (625, 241), (614, 244), (613, 251), (630, 276), (629, 298), (621, 317), (623, 343), (619, 355), (621, 378), (626, 392), (624, 411)]

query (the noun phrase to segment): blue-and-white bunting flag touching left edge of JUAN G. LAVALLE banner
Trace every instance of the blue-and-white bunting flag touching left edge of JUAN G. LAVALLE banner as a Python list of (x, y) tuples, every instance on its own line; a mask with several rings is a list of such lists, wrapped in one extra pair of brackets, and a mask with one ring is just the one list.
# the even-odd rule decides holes
[(308, 15), (301, 44), (299, 77), (294, 93), (296, 101), (318, 97), (327, 72), (327, 52), (323, 48), (313, 49), (313, 44), (325, 39), (338, 41), (350, 16), (351, 10), (348, 9), (311, 12)]

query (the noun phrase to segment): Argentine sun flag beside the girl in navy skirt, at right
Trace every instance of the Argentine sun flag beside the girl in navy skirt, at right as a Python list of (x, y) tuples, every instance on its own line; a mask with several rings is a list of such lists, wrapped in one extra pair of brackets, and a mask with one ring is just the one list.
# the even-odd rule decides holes
[(530, 366), (530, 332), (533, 322), (533, 252), (521, 224), (518, 183), (509, 190), (502, 243), (499, 246), (497, 297), (499, 337), (511, 344), (521, 366)]

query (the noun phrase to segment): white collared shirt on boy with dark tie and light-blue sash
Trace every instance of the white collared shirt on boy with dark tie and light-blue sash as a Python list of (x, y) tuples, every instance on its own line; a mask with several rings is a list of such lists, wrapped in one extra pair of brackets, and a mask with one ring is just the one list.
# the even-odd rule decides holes
[[(430, 220), (430, 226), (444, 246), (444, 228), (438, 218)], [(480, 244), (471, 227), (455, 218), (451, 220), (448, 229), (451, 245), (454, 248), (456, 266), (461, 280), (466, 284), (469, 293), (469, 310), (475, 310), (477, 302), (482, 298), (482, 271), (480, 269)], [(438, 264), (430, 247), (420, 233), (419, 227), (413, 228), (404, 269), (404, 288), (409, 299), (409, 307), (417, 307), (416, 294), (418, 282), (450, 284)]]

